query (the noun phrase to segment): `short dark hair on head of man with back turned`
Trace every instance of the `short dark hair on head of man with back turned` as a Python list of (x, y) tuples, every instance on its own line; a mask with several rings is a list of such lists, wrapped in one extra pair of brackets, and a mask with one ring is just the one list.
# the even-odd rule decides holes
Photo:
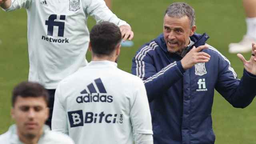
[(120, 29), (112, 22), (100, 22), (90, 32), (92, 52), (96, 56), (109, 56), (121, 40)]

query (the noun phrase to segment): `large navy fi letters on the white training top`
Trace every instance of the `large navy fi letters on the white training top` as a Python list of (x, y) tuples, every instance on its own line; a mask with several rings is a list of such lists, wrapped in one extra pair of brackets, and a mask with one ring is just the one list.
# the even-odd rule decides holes
[[(54, 21), (56, 19), (57, 19), (57, 15), (52, 14), (52, 15), (49, 16), (48, 20), (45, 21), (45, 24), (48, 26), (47, 35), (48, 36), (53, 36), (53, 28), (54, 28), (54, 26), (58, 26), (58, 36), (63, 37), (64, 36), (65, 22)], [(66, 20), (66, 16), (65, 15), (60, 15), (60, 20)]]

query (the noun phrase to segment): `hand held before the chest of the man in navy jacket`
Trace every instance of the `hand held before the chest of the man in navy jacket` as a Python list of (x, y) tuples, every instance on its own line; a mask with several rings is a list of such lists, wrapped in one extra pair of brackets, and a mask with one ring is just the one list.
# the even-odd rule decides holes
[(188, 68), (191, 68), (200, 62), (209, 62), (211, 56), (206, 52), (200, 52), (206, 48), (208, 48), (207, 45), (198, 46), (198, 48), (194, 46), (190, 52), (188, 52), (181, 60), (181, 64), (184, 70), (187, 70)]

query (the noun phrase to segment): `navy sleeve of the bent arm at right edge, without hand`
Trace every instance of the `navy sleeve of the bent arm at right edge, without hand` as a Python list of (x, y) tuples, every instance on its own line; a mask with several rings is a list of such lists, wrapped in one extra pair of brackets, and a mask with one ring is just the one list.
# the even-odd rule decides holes
[(237, 78), (230, 62), (223, 55), (219, 55), (219, 73), (216, 90), (236, 108), (245, 108), (256, 95), (256, 76), (244, 70), (243, 77)]

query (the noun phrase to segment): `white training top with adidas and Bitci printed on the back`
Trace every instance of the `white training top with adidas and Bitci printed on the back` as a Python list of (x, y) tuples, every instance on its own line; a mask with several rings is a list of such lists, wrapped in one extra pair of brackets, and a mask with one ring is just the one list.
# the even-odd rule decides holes
[(153, 144), (142, 80), (115, 62), (90, 62), (58, 84), (52, 130), (76, 144)]

